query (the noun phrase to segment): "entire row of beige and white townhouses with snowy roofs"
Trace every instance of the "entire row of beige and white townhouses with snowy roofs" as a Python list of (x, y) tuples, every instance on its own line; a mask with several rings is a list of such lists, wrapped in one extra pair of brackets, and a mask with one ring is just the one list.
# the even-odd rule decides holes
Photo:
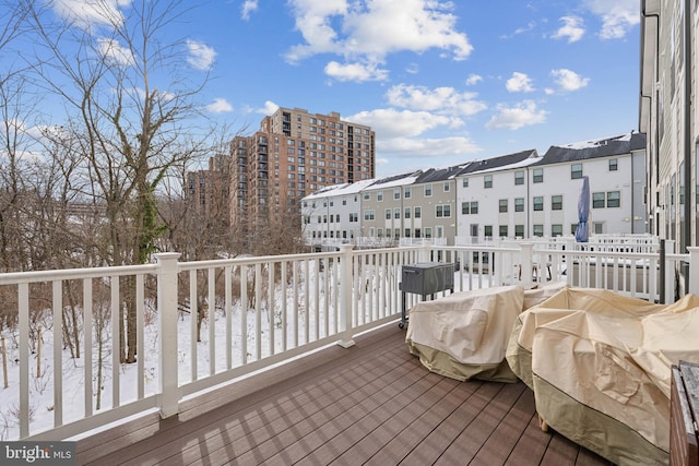
[(590, 235), (645, 232), (645, 135), (550, 146), (328, 187), (301, 201), (307, 243), (451, 244), (574, 234), (583, 177)]

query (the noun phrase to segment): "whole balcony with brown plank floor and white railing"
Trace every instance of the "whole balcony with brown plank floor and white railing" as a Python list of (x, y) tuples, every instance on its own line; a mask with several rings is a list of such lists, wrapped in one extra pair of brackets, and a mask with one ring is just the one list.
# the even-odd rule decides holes
[[(457, 262), (454, 291), (544, 283), (550, 268), (550, 279), (571, 286), (594, 276), (619, 292), (666, 301), (673, 278), (659, 271), (688, 263), (690, 276), (699, 275), (699, 249), (664, 254), (663, 267), (660, 258), (652, 247), (555, 242), (343, 244), (312, 254), (179, 262), (163, 253), (139, 266), (0, 274), (16, 316), (15, 330), (3, 331), (16, 362), (0, 406), (14, 406), (16, 419), (2, 440), (73, 440), (80, 464), (605, 464), (542, 432), (524, 385), (455, 382), (424, 369), (398, 327), (401, 267)], [(640, 273), (627, 280), (629, 261)], [(578, 273), (566, 273), (573, 264)], [(112, 338), (127, 326), (115, 312), (127, 301), (135, 306), (133, 363), (120, 362)], [(92, 330), (76, 338), (93, 351), (71, 358), (63, 350), (67, 315)]]

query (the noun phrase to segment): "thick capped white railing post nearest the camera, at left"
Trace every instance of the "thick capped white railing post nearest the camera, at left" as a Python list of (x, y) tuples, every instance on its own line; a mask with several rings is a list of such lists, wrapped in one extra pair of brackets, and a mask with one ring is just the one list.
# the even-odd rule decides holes
[(177, 260), (178, 252), (155, 254), (157, 272), (157, 315), (159, 332), (159, 405), (161, 417), (174, 416), (179, 410), (177, 382)]

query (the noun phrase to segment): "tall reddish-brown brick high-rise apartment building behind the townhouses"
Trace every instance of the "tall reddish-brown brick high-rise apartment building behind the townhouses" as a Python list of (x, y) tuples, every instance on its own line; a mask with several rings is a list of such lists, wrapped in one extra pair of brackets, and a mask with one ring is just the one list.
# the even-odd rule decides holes
[(294, 222), (307, 194), (376, 176), (375, 132), (337, 112), (280, 108), (230, 154), (232, 225)]

